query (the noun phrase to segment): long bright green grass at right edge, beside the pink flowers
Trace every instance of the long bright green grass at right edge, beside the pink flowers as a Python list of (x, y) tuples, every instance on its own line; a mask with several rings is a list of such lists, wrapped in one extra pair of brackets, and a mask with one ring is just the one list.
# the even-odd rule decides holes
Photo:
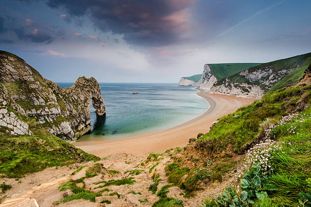
[[(285, 144), (283, 153), (272, 154), (274, 171), (269, 180), (278, 188), (269, 195), (272, 203), (293, 206), (301, 197), (300, 192), (311, 193), (311, 183), (307, 180), (311, 178), (311, 108), (302, 114), (305, 114), (303, 122), (293, 120), (274, 129), (275, 140)], [(295, 133), (289, 133), (292, 126), (297, 127)], [(311, 206), (311, 200), (306, 204)]]

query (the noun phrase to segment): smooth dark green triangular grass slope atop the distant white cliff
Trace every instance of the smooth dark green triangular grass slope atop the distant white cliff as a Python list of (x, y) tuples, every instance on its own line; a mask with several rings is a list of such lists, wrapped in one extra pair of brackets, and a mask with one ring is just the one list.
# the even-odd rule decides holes
[(211, 73), (216, 79), (221, 80), (259, 64), (261, 63), (219, 63), (208, 65), (210, 66)]

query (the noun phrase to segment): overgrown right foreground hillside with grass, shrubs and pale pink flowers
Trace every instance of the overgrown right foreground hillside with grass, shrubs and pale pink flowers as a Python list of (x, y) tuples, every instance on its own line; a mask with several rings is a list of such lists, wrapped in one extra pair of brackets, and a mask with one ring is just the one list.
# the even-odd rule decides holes
[(169, 182), (186, 197), (232, 186), (205, 206), (311, 206), (310, 105), (311, 85), (292, 87), (218, 119), (167, 165)]

